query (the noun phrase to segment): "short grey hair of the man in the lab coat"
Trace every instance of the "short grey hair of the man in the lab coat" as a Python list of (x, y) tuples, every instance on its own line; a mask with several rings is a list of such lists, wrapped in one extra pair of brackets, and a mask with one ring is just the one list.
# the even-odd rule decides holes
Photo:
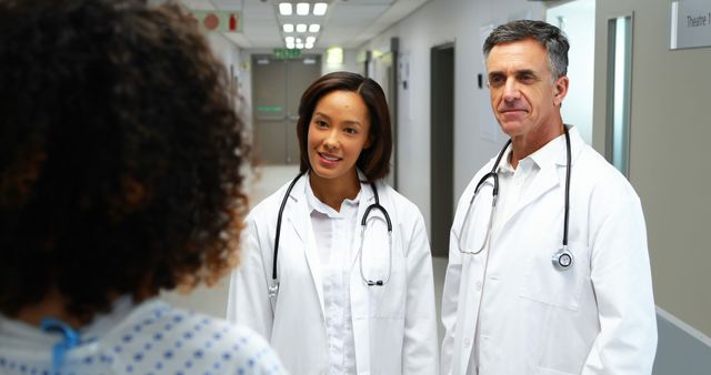
[(545, 48), (553, 80), (568, 73), (568, 38), (559, 28), (543, 21), (518, 20), (497, 27), (484, 41), (484, 59), (489, 59), (494, 45), (524, 39), (535, 39)]

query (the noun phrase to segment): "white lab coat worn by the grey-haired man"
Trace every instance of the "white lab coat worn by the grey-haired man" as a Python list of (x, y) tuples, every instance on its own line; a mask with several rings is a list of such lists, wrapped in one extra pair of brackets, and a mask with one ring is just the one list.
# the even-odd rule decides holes
[(569, 270), (551, 263), (563, 232), (562, 135), (552, 141), (560, 146), (557, 162), (541, 166), (493, 233), (485, 272), (488, 251), (462, 254), (458, 239), (474, 186), (493, 159), (461, 196), (442, 300), (443, 375), (477, 374), (467, 366), (478, 320), (482, 375), (651, 374), (657, 324), (640, 200), (577, 129), (570, 138)]

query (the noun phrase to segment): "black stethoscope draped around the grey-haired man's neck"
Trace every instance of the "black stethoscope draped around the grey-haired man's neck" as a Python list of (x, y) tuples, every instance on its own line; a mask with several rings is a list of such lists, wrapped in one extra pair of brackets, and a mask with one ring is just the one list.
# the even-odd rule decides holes
[[(565, 155), (567, 155), (563, 245), (560, 250), (553, 252), (551, 256), (551, 262), (553, 263), (553, 266), (561, 271), (570, 268), (570, 266), (573, 264), (573, 254), (568, 250), (568, 216), (569, 216), (568, 214), (570, 209), (570, 159), (571, 159), (570, 135), (568, 134), (568, 128), (565, 125), (563, 125), (563, 130), (565, 134)], [(462, 221), (462, 226), (459, 231), (459, 251), (464, 254), (477, 255), (481, 253), (484, 250), (484, 247), (489, 244), (489, 241), (491, 240), (491, 227), (493, 223), (494, 212), (497, 211), (495, 210), (497, 199), (499, 197), (499, 174), (497, 173), (497, 169), (499, 168), (501, 158), (503, 158), (503, 153), (507, 151), (510, 144), (511, 144), (511, 140), (509, 140), (507, 144), (503, 145), (503, 149), (501, 149), (501, 151), (499, 152), (499, 155), (497, 156), (497, 161), (493, 163), (491, 171), (484, 174), (481, 178), (481, 180), (479, 180), (479, 182), (477, 183), (477, 186), (474, 188), (474, 195), (471, 197), (471, 201), (469, 201), (469, 206), (467, 207), (467, 213), (464, 214), (464, 220)], [(493, 199), (491, 201), (491, 212), (489, 213), (489, 224), (487, 226), (487, 234), (485, 234), (484, 241), (481, 243), (481, 246), (479, 249), (468, 250), (464, 245), (462, 245), (462, 242), (461, 242), (461, 240), (464, 237), (464, 227), (468, 227), (467, 224), (469, 223), (470, 212), (473, 206), (474, 200), (479, 194), (479, 190), (481, 189), (481, 186), (483, 186), (484, 182), (487, 182), (489, 179), (493, 180), (493, 189), (492, 189)]]

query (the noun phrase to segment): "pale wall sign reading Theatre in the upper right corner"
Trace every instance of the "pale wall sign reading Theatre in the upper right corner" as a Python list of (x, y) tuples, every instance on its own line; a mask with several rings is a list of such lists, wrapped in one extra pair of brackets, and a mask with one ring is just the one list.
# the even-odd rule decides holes
[(672, 1), (669, 48), (697, 47), (711, 47), (711, 1)]

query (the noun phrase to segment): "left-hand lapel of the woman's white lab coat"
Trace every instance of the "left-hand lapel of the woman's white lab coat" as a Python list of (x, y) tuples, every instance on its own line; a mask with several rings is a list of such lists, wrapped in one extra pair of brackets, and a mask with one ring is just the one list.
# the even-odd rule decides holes
[(306, 189), (308, 175), (299, 179), (297, 185), (291, 191), (291, 199), (296, 202), (294, 209), (290, 210), (287, 214), (287, 221), (293, 227), (294, 232), (303, 244), (303, 252), (309, 264), (309, 271), (311, 273), (311, 280), (313, 281), (313, 287), (319, 297), (319, 305), (321, 306), (321, 317), (323, 317), (323, 287), (321, 284), (321, 264), (319, 260), (319, 250), (316, 244), (316, 237), (313, 234), (313, 227), (311, 226), (311, 215), (309, 213), (309, 205), (307, 203)]

